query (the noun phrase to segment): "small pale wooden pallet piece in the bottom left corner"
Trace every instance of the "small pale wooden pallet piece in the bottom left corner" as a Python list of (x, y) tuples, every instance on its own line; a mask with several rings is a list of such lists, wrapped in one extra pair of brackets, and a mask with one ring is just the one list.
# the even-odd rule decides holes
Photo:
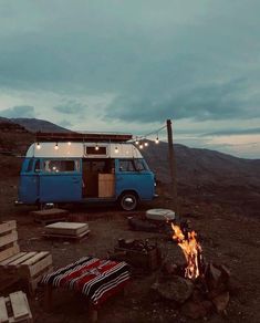
[(19, 291), (0, 298), (0, 322), (33, 322), (27, 295)]

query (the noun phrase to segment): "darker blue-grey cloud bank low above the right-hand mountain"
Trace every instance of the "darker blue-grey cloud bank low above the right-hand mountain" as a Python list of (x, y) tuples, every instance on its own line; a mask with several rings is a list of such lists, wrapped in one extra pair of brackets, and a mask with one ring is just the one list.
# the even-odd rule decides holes
[(194, 121), (252, 118), (260, 116), (260, 95), (248, 94), (247, 80), (207, 83), (173, 91), (165, 96), (118, 96), (105, 117), (126, 122), (153, 123), (166, 118)]

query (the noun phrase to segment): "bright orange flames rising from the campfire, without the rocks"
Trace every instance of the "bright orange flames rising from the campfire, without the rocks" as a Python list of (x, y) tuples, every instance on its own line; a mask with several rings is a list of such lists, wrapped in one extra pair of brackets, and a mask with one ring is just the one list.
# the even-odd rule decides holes
[(188, 232), (185, 237), (184, 232), (178, 226), (171, 223), (174, 230), (173, 239), (177, 241), (178, 246), (181, 248), (185, 259), (187, 261), (187, 267), (185, 269), (185, 277), (189, 279), (196, 279), (199, 277), (199, 264), (201, 262), (201, 246), (197, 241), (197, 233), (195, 231)]

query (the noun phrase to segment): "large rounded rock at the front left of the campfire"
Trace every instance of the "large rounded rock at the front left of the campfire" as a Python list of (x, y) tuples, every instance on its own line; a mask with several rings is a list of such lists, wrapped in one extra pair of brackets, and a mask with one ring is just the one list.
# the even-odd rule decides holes
[(177, 303), (184, 303), (191, 296), (194, 284), (187, 279), (173, 275), (170, 280), (159, 282), (157, 285), (157, 291), (164, 299), (175, 301)]

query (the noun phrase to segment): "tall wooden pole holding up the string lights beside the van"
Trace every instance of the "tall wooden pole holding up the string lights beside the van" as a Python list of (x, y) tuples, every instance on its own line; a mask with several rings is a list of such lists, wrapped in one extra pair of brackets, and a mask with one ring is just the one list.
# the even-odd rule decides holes
[(171, 198), (174, 201), (174, 211), (176, 217), (178, 217), (178, 196), (177, 196), (177, 179), (176, 179), (176, 158), (174, 152), (173, 142), (173, 129), (171, 121), (167, 119), (167, 134), (168, 134), (168, 162), (169, 162), (169, 173), (170, 173), (170, 187), (171, 187)]

